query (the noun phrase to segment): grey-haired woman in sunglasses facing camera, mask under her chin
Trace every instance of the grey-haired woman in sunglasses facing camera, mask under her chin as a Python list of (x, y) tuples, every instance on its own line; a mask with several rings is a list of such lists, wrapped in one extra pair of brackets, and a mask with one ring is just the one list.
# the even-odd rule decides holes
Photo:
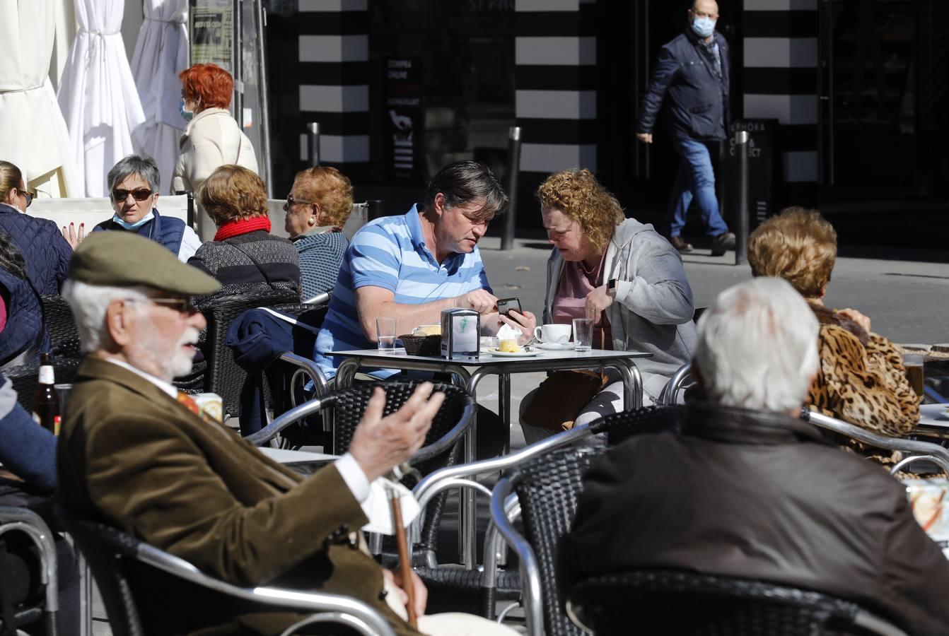
[[(109, 171), (106, 181), (109, 186), (109, 198), (115, 214), (108, 221), (102, 221), (92, 231), (124, 230), (135, 232), (146, 239), (164, 245), (176, 254), (178, 260), (187, 263), (201, 246), (195, 230), (175, 217), (161, 216), (158, 213), (158, 187), (161, 175), (158, 164), (150, 156), (129, 154)], [(73, 241), (70, 229), (65, 232), (75, 246), (83, 240), (83, 227)]]

